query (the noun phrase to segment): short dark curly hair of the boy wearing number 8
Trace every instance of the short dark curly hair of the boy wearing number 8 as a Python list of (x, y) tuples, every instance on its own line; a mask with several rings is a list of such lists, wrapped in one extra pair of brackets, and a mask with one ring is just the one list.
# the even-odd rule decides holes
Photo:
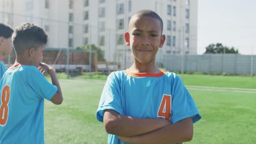
[(15, 29), (13, 34), (13, 45), (16, 54), (26, 52), (27, 49), (38, 49), (47, 43), (48, 36), (44, 30), (33, 23), (24, 23)]

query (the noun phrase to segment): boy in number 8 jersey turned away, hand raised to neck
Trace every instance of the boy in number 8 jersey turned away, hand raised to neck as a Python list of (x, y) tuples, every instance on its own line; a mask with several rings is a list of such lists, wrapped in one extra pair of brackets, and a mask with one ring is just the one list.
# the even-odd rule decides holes
[[(44, 143), (44, 99), (62, 103), (55, 69), (42, 63), (47, 37), (32, 23), (15, 29), (16, 62), (0, 82), (0, 143)], [(42, 74), (44, 70), (52, 84)]]

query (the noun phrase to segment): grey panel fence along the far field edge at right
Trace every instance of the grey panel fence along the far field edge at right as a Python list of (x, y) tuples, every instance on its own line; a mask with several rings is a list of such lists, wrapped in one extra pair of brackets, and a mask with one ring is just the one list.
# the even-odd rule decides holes
[(239, 54), (172, 55), (163, 58), (163, 67), (170, 71), (256, 74), (256, 56)]

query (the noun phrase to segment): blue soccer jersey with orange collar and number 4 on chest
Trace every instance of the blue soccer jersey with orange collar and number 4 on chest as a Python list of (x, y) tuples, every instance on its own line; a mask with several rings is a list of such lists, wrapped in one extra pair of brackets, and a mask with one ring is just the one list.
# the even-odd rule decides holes
[[(165, 118), (171, 123), (192, 117), (201, 118), (197, 106), (181, 79), (174, 73), (159, 74), (115, 71), (108, 76), (97, 109), (97, 119), (103, 122), (104, 110), (140, 118)], [(108, 135), (108, 143), (121, 142)]]

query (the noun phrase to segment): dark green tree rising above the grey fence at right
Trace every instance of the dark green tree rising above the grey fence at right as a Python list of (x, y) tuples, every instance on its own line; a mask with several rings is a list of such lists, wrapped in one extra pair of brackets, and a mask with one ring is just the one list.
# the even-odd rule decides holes
[(227, 46), (223, 46), (221, 43), (210, 44), (205, 47), (205, 53), (238, 53), (238, 50), (235, 50), (234, 47), (231, 49)]

